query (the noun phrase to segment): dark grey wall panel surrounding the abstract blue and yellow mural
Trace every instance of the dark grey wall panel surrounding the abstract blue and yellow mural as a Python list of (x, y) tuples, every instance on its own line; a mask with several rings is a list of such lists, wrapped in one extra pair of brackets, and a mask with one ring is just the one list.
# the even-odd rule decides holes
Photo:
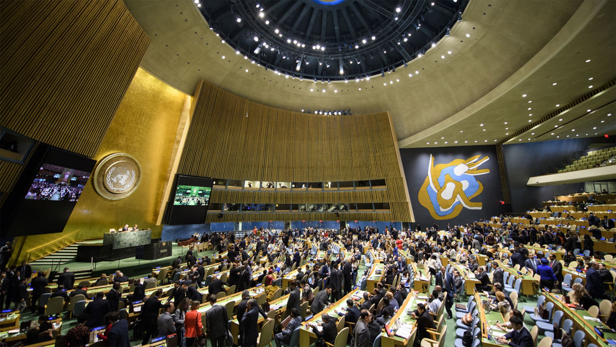
[[(488, 156), (487, 162), (484, 162), (478, 169), (489, 169), (490, 173), (474, 176), (479, 181), (484, 190), (482, 193), (472, 198), (472, 202), (481, 202), (481, 209), (466, 209), (462, 208), (460, 214), (456, 217), (447, 216), (437, 220), (431, 216), (430, 211), (419, 203), (419, 190), (424, 184), (428, 176), (430, 155), (434, 156), (434, 165), (446, 164), (455, 159), (466, 160), (474, 155), (480, 155), (480, 158)], [(418, 148), (418, 149), (400, 149), (402, 157), (402, 165), (404, 174), (407, 178), (408, 193), (411, 198), (411, 206), (415, 220), (421, 227), (429, 227), (434, 220), (441, 228), (447, 223), (450, 225), (459, 225), (501, 214), (506, 206), (501, 205), (503, 193), (500, 184), (500, 174), (498, 171), (498, 162), (496, 160), (496, 149), (494, 146), (460, 146), (460, 147), (437, 147), (437, 148)]]

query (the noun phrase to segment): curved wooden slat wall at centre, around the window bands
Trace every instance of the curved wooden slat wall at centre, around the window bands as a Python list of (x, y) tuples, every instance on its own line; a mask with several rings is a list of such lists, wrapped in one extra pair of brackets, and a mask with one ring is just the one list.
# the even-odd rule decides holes
[[(340, 219), (412, 221), (387, 112), (302, 114), (253, 103), (203, 81), (197, 90), (179, 174), (274, 182), (385, 179), (387, 186), (336, 192), (214, 190), (212, 203), (390, 203), (391, 212), (340, 212)], [(213, 214), (207, 221), (332, 219), (331, 212), (268, 212)]]

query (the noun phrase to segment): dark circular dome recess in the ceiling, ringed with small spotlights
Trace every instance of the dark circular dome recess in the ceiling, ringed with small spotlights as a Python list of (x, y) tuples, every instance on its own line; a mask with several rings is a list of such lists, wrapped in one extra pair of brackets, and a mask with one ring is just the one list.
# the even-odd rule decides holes
[(208, 0), (210, 29), (251, 61), (302, 79), (395, 71), (461, 20), (467, 0)]

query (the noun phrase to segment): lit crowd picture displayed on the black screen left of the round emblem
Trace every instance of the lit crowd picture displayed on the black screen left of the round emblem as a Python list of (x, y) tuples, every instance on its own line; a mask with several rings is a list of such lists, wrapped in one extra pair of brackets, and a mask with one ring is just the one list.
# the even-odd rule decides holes
[(77, 201), (90, 173), (63, 166), (43, 164), (26, 193), (26, 199)]

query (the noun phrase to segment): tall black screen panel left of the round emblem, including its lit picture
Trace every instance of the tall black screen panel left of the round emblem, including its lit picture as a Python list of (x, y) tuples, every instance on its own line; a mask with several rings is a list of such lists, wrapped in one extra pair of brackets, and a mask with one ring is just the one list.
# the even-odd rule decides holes
[(64, 230), (96, 161), (39, 144), (0, 211), (2, 236)]

